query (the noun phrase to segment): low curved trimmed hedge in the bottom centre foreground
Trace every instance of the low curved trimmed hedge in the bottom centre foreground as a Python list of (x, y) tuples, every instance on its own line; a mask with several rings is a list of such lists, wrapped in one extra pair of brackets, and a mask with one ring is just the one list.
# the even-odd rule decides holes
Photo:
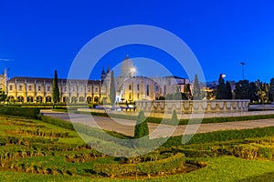
[(123, 175), (153, 175), (164, 173), (183, 167), (185, 162), (184, 154), (177, 153), (174, 157), (164, 158), (151, 162), (142, 162), (138, 164), (94, 164), (94, 172), (108, 177), (117, 177)]

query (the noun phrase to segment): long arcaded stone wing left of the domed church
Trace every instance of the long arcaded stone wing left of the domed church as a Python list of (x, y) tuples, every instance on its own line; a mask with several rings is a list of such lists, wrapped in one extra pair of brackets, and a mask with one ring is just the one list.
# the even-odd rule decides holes
[[(53, 79), (35, 77), (14, 77), (7, 81), (8, 97), (17, 102), (52, 102)], [(100, 102), (104, 96), (100, 80), (58, 79), (60, 102)]]

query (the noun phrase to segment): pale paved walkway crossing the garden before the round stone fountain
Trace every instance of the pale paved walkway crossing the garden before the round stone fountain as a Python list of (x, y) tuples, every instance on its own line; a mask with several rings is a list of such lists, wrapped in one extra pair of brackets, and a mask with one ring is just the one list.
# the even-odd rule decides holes
[[(71, 121), (72, 123), (100, 127), (102, 129), (116, 131), (128, 136), (133, 136), (134, 134), (135, 121), (132, 120), (102, 116), (92, 116), (94, 119), (91, 119), (90, 115), (69, 114), (68, 116), (68, 113), (53, 112), (50, 110), (41, 110), (41, 113), (43, 113), (45, 116), (56, 117), (59, 119)], [(150, 137), (155, 138), (161, 136), (180, 136), (183, 134), (206, 133), (227, 129), (246, 129), (274, 126), (274, 118), (187, 126), (167, 126), (150, 123), (148, 126), (150, 130)]]

